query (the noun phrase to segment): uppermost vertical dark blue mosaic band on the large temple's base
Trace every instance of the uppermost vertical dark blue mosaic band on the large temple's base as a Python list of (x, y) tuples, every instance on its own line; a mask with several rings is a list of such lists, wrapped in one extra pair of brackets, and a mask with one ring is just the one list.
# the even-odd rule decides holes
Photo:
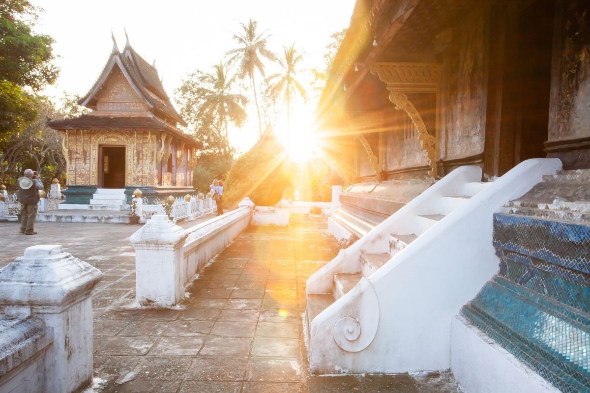
[(590, 274), (590, 226), (514, 214), (494, 214), (493, 244)]

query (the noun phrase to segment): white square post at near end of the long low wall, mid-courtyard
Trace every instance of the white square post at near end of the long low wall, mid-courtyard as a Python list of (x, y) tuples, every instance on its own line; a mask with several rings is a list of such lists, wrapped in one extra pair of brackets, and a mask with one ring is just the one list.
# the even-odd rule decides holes
[(187, 233), (165, 214), (154, 214), (131, 238), (135, 248), (136, 298), (142, 306), (173, 306), (184, 298)]

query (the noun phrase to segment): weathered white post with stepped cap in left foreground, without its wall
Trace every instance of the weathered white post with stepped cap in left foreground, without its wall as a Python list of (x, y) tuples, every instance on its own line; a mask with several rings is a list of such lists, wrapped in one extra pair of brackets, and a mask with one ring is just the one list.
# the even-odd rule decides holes
[(77, 392), (92, 381), (91, 291), (102, 276), (60, 245), (28, 247), (0, 271), (5, 318), (32, 315), (53, 328), (45, 361), (46, 392)]

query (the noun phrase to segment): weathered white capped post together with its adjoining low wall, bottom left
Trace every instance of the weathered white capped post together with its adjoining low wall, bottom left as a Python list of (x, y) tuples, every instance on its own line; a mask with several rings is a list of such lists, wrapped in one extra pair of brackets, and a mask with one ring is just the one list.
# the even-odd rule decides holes
[(0, 392), (78, 392), (93, 366), (91, 291), (100, 270), (58, 245), (0, 270)]

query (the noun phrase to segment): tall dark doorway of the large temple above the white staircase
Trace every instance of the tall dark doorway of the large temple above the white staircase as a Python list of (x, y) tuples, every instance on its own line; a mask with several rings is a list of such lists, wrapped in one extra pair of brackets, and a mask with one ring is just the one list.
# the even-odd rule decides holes
[(491, 18), (487, 176), (545, 157), (549, 128), (555, 0), (501, 4)]

